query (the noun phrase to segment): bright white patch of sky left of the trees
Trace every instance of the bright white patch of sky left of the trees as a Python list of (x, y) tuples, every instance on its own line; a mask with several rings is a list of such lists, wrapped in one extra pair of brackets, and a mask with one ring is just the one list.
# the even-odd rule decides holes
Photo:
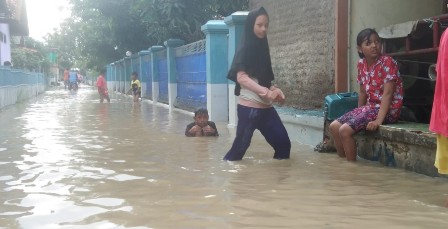
[(30, 37), (39, 41), (70, 16), (68, 0), (26, 0), (26, 7)]

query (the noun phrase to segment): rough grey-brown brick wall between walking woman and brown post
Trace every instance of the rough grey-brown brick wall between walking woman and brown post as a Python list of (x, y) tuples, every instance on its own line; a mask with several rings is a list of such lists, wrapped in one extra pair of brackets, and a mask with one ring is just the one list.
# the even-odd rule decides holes
[(276, 84), (286, 105), (323, 106), (334, 91), (334, 0), (250, 0), (269, 13), (268, 32)]

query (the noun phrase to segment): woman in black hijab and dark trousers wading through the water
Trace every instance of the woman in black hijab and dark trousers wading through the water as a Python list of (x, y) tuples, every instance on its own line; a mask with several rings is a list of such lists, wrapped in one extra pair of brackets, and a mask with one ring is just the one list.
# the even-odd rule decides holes
[(236, 83), (239, 96), (238, 126), (232, 148), (224, 160), (243, 159), (255, 129), (274, 148), (275, 159), (288, 159), (291, 141), (273, 102), (283, 103), (285, 95), (272, 85), (271, 56), (267, 30), (269, 17), (266, 10), (253, 10), (246, 19), (244, 35), (227, 78)]

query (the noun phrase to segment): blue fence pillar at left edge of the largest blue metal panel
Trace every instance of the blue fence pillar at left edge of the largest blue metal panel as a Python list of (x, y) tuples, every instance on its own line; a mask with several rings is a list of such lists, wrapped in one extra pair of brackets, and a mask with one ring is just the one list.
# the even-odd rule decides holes
[(184, 45), (185, 42), (180, 39), (169, 39), (165, 41), (166, 59), (168, 64), (168, 106), (170, 110), (174, 108), (177, 97), (177, 67), (176, 52), (174, 48)]

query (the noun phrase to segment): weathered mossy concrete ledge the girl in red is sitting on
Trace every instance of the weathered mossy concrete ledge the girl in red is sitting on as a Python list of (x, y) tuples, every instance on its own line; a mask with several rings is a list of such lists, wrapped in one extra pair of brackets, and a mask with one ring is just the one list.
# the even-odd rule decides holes
[(428, 124), (399, 122), (382, 125), (378, 131), (355, 135), (357, 153), (367, 160), (409, 171), (438, 176), (434, 167), (436, 135)]

